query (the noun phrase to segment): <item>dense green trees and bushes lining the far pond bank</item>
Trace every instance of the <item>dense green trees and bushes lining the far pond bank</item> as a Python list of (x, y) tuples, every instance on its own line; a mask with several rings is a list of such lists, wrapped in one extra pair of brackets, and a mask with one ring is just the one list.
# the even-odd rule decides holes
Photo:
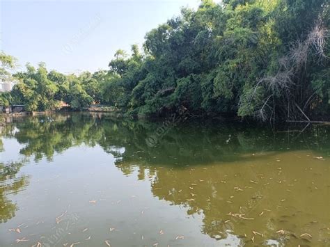
[[(327, 0), (204, 0), (147, 33), (143, 52), (118, 50), (107, 71), (76, 76), (26, 65), (0, 100), (29, 111), (62, 101), (141, 116), (184, 109), (264, 121), (329, 118), (329, 14)], [(1, 74), (11, 62), (1, 54)]]

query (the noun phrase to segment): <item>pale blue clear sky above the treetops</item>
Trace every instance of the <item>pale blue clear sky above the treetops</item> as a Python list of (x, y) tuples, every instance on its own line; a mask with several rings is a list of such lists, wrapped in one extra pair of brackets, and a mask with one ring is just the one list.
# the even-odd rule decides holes
[(0, 0), (0, 50), (24, 70), (45, 62), (63, 73), (107, 69), (116, 50), (142, 45), (148, 31), (199, 0)]

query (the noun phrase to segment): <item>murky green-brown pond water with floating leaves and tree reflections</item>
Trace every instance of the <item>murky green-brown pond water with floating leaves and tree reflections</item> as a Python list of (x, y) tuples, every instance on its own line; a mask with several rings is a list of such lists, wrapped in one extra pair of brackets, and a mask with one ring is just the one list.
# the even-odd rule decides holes
[(330, 126), (7, 121), (1, 247), (330, 246)]

